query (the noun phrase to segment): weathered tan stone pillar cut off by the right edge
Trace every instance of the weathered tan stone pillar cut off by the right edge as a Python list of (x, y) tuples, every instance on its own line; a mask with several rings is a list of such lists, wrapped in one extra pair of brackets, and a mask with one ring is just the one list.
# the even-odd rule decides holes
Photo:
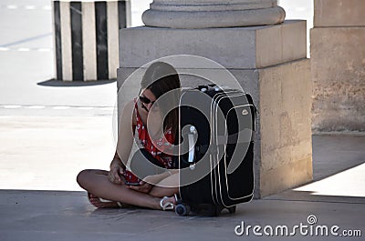
[(365, 1), (315, 0), (313, 130), (365, 131)]

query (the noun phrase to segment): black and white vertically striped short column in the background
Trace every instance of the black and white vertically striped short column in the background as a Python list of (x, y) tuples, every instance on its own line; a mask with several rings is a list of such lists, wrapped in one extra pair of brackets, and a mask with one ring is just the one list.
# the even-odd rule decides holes
[(119, 29), (130, 26), (130, 0), (53, 0), (58, 80), (117, 77)]

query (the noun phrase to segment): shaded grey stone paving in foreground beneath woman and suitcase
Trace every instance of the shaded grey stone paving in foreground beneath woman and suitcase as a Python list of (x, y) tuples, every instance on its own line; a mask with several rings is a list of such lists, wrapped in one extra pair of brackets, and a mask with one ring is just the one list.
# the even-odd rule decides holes
[[(285, 200), (254, 200), (239, 205), (235, 215), (176, 216), (141, 208), (96, 209), (82, 192), (0, 191), (0, 239), (7, 240), (333, 240), (310, 235), (310, 226), (339, 226), (363, 230), (364, 204)], [(309, 225), (308, 216), (317, 223)], [(255, 236), (252, 228), (242, 236), (235, 227), (287, 226), (287, 236)], [(302, 235), (294, 226), (308, 226)], [(236, 229), (237, 233), (240, 228)], [(268, 229), (267, 229), (268, 230)], [(313, 229), (316, 230), (316, 229)], [(328, 229), (329, 230), (329, 229)], [(269, 231), (267, 231), (269, 232)], [(281, 232), (281, 231), (278, 231)], [(329, 232), (329, 231), (328, 231)], [(290, 236), (290, 233), (293, 235)], [(278, 233), (281, 234), (281, 233)], [(286, 233), (284, 233), (286, 234)], [(344, 238), (344, 237), (343, 237)], [(344, 238), (362, 240), (360, 236)]]

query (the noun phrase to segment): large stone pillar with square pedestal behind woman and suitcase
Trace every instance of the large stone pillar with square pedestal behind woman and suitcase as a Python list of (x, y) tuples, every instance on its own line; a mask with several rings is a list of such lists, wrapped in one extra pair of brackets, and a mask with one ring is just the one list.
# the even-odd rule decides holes
[[(143, 15), (150, 26), (120, 30), (119, 87), (137, 68), (158, 58), (198, 55), (223, 65), (253, 95), (259, 111), (256, 198), (312, 179), (306, 22), (282, 23), (284, 15), (272, 0), (155, 0)], [(223, 71), (189, 61), (171, 64), (185, 73), (218, 76)], [(197, 85), (191, 77), (182, 79), (183, 85)]]

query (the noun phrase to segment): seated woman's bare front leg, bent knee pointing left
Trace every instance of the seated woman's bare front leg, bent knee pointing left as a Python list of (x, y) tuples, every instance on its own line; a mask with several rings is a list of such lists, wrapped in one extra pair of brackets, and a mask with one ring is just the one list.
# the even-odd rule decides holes
[[(110, 182), (108, 172), (102, 170), (84, 170), (78, 174), (78, 184), (94, 196), (130, 204), (134, 206), (162, 209), (161, 196), (151, 196), (129, 189), (125, 185)], [(166, 193), (166, 195), (170, 194)]]

